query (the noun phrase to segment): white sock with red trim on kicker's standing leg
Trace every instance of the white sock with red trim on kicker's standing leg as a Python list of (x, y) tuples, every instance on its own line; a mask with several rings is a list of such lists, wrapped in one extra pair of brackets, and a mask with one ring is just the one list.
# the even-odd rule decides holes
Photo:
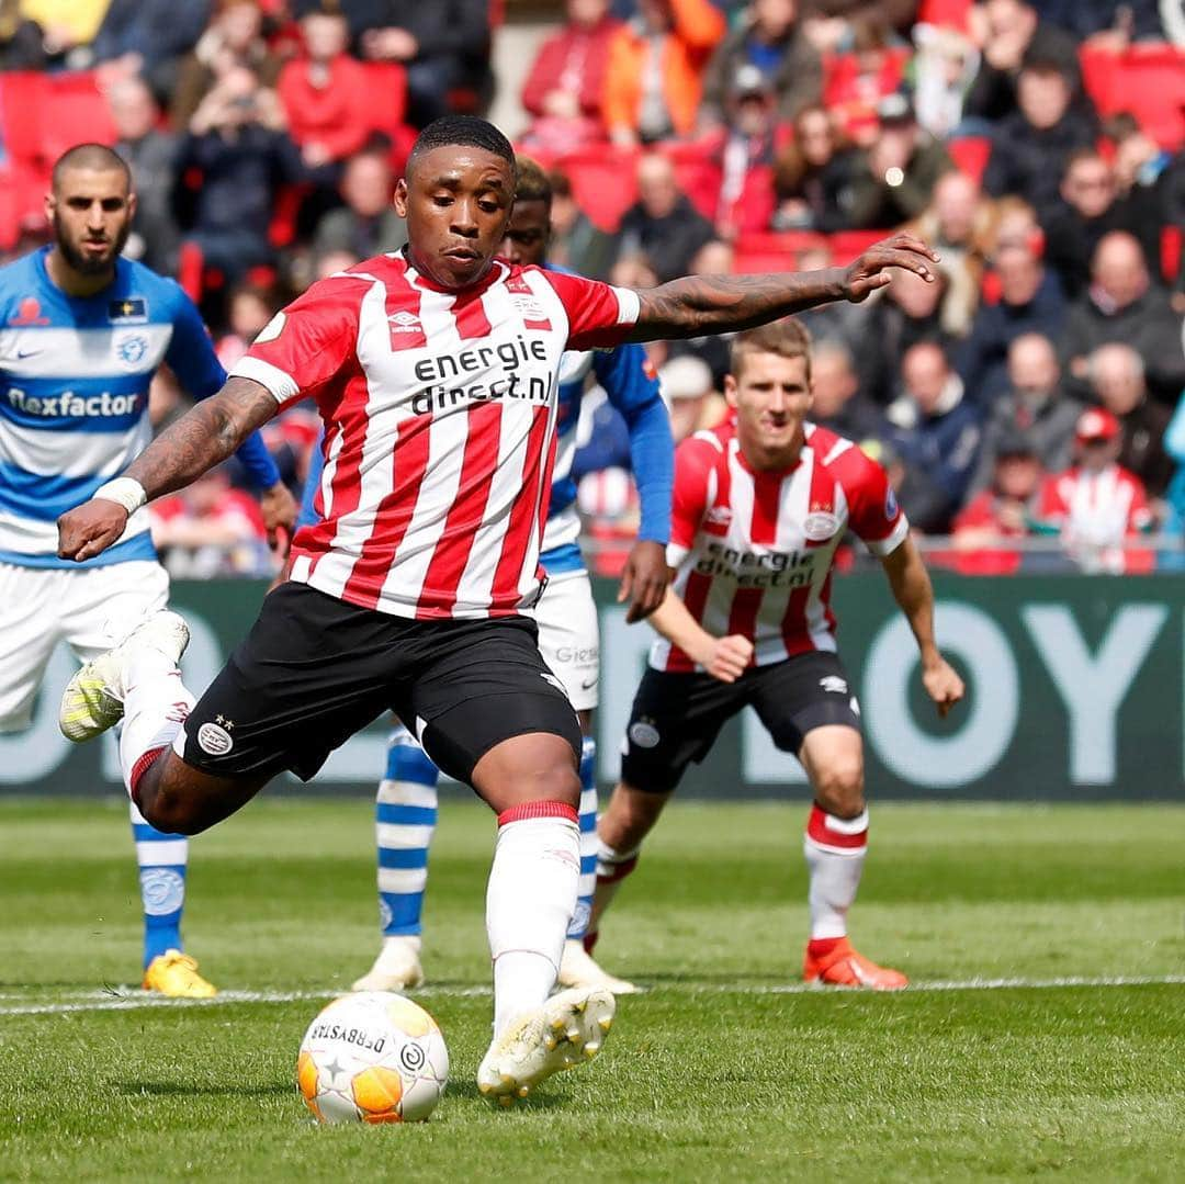
[(576, 811), (533, 801), (498, 815), (498, 843), (486, 889), (486, 933), (494, 962), (494, 1037), (542, 1007), (559, 959), (581, 875)]

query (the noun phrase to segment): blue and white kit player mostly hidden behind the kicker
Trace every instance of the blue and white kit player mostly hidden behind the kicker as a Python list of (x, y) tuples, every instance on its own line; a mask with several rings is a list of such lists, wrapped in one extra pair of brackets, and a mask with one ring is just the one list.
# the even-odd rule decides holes
[[(533, 161), (519, 158), (518, 198), (502, 255), (521, 265), (542, 264), (547, 247), (551, 187)], [(630, 459), (641, 501), (641, 525), (630, 553), (622, 596), (632, 601), (630, 617), (653, 612), (666, 590), (665, 545), (671, 531), (673, 444), (658, 379), (639, 345), (594, 353), (568, 352), (559, 372), (556, 465), (540, 563), (547, 583), (532, 610), (539, 627), (539, 651), (563, 684), (584, 732), (581, 760), (581, 881), (576, 913), (569, 927), (559, 967), (561, 986), (608, 986), (632, 990), (613, 979), (584, 952), (596, 888), (596, 743), (592, 710), (597, 703), (600, 636), (596, 604), (578, 544), (576, 482), (571, 478), (576, 428), (585, 389), (600, 383), (629, 428)], [(301, 524), (316, 521), (313, 494), (320, 481), (319, 450), (306, 485)], [(383, 948), (373, 968), (356, 984), (358, 991), (397, 991), (423, 981), (419, 965), (421, 914), (428, 881), (428, 849), (436, 826), (436, 783), (440, 774), (403, 728), (387, 748), (386, 775), (379, 785), (378, 838), (379, 915)]]

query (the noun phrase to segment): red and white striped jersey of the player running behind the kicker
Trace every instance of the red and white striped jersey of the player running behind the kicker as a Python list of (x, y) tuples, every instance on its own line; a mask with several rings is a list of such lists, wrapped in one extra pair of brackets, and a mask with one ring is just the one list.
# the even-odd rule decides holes
[[(698, 431), (675, 453), (674, 590), (713, 636), (749, 638), (758, 666), (833, 651), (835, 548), (852, 530), (875, 555), (889, 555), (909, 523), (884, 469), (850, 440), (808, 423), (793, 468), (756, 472), (735, 431), (729, 423)], [(665, 638), (651, 666), (696, 668)]]

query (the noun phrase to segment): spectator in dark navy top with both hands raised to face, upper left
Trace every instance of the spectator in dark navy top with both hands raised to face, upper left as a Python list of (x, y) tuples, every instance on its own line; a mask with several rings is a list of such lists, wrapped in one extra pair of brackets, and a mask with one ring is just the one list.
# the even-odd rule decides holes
[(276, 190), (303, 175), (275, 91), (231, 68), (201, 101), (181, 141), (179, 177), (200, 178), (186, 242), (232, 282), (273, 260), (268, 229)]

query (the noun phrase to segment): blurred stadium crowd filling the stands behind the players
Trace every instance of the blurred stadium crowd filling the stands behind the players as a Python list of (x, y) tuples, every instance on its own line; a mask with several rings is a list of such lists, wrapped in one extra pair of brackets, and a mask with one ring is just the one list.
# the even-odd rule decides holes
[[(645, 287), (841, 265), (915, 228), (939, 283), (902, 275), (803, 318), (815, 418), (885, 465), (920, 535), (949, 536), (937, 562), (1180, 564), (1164, 540), (1185, 532), (1181, 0), (555, 7), (518, 139), (551, 171), (555, 262)], [(127, 254), (199, 301), (230, 365), (315, 279), (402, 245), (390, 196), (414, 129), (488, 110), (505, 9), (0, 0), (4, 257), (47, 241), (55, 156), (115, 145), (140, 196)], [(717, 422), (726, 343), (649, 348), (677, 439)], [(159, 380), (155, 420), (180, 401)], [(635, 525), (628, 437), (587, 402), (574, 473), (609, 571)], [(316, 428), (297, 407), (269, 429), (297, 492)], [(156, 507), (179, 574), (268, 564), (235, 484)]]

